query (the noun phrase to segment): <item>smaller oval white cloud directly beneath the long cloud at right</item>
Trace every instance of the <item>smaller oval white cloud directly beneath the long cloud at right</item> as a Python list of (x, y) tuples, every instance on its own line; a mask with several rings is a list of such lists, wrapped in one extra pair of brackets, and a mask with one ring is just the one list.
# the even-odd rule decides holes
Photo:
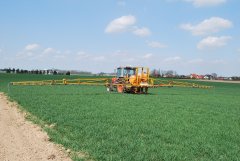
[(213, 37), (209, 36), (207, 38), (202, 39), (198, 45), (198, 49), (207, 49), (207, 48), (217, 48), (222, 47), (227, 44), (227, 41), (231, 39), (230, 36), (221, 36), (221, 37)]

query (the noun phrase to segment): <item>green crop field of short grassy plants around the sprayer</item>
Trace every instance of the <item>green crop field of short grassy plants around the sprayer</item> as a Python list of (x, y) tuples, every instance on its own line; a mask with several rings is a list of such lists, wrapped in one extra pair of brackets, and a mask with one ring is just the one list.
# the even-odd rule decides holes
[(7, 88), (10, 81), (63, 77), (1, 74), (0, 91), (74, 160), (240, 160), (240, 84), (201, 82), (215, 88), (163, 87), (148, 95), (102, 86)]

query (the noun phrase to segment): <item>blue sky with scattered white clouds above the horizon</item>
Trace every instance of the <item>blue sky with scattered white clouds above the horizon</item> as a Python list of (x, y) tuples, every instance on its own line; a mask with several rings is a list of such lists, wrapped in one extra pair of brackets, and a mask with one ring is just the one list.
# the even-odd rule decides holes
[(239, 0), (1, 0), (0, 68), (240, 75)]

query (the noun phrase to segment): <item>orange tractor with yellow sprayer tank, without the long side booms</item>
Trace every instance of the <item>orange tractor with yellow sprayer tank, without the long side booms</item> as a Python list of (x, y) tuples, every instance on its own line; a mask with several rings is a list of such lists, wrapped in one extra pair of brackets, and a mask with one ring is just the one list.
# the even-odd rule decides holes
[(107, 91), (118, 93), (147, 93), (153, 86), (153, 80), (149, 78), (147, 67), (118, 67), (116, 77), (106, 84)]

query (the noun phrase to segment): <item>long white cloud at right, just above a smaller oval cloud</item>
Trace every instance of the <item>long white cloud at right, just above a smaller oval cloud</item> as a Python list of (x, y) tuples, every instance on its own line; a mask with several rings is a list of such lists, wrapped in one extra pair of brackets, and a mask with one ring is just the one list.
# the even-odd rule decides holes
[(232, 22), (221, 17), (211, 17), (205, 19), (197, 25), (182, 24), (180, 26), (186, 31), (190, 31), (193, 35), (209, 35), (212, 33), (217, 33), (222, 29), (232, 27)]

